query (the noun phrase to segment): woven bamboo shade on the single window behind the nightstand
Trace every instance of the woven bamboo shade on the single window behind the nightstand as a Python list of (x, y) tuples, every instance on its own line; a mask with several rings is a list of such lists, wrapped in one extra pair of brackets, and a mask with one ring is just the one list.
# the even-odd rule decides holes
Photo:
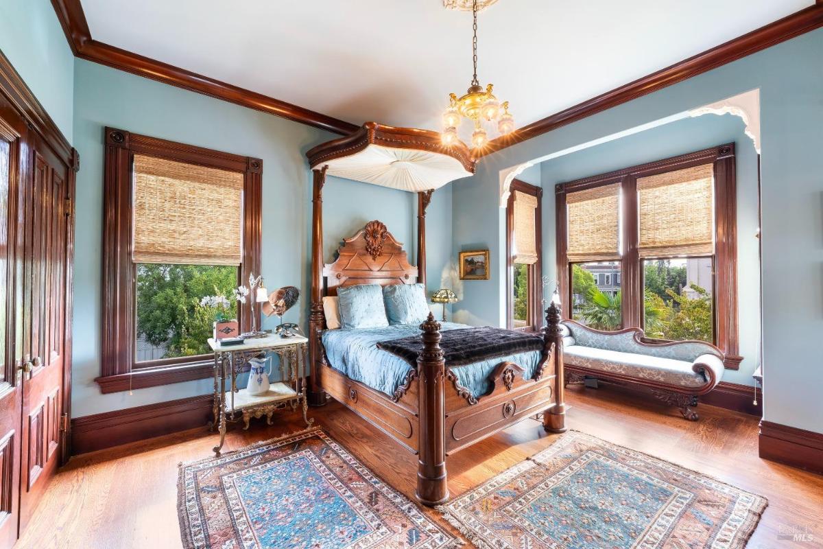
[(244, 174), (134, 155), (133, 261), (239, 265)]

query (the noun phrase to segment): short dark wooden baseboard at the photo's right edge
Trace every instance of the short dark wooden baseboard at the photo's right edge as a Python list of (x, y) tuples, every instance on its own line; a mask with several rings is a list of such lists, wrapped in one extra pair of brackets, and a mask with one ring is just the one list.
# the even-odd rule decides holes
[(823, 433), (760, 421), (760, 457), (823, 474)]

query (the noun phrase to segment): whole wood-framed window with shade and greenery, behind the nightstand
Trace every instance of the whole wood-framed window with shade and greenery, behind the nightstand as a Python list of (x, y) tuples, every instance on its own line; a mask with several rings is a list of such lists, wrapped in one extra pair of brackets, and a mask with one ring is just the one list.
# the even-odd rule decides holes
[[(104, 393), (212, 375), (215, 311), (259, 272), (262, 161), (106, 129)], [(230, 302), (226, 314), (250, 322)]]

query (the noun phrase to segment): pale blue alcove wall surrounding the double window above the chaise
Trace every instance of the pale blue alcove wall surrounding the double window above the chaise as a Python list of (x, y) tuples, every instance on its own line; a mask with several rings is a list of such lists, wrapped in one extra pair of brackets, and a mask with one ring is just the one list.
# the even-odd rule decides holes
[(760, 257), (757, 220), (757, 152), (731, 114), (682, 119), (539, 164), (543, 195), (544, 272), (556, 279), (555, 185), (591, 175), (663, 160), (734, 142), (737, 165), (737, 289), (740, 319), (740, 370), (726, 370), (725, 381), (754, 385), (751, 373), (760, 363)]

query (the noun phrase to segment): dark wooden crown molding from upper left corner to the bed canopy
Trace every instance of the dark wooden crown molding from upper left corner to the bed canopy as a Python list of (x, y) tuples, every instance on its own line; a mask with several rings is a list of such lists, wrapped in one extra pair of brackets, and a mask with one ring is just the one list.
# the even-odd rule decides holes
[(209, 95), (249, 109), (260, 110), (284, 119), (305, 123), (332, 133), (348, 135), (360, 128), (356, 124), (335, 119), (314, 110), (304, 109), (298, 105), (292, 105), (256, 91), (233, 86), (224, 81), (215, 80), (196, 72), (187, 71), (184, 68), (174, 67), (174, 65), (162, 63), (156, 59), (104, 44), (91, 38), (91, 32), (80, 0), (52, 0), (52, 5), (54, 12), (57, 13), (60, 25), (63, 26), (63, 32), (66, 34), (69, 47), (78, 58), (131, 72), (137, 74), (137, 76), (151, 78), (151, 80), (177, 86), (184, 90)]

